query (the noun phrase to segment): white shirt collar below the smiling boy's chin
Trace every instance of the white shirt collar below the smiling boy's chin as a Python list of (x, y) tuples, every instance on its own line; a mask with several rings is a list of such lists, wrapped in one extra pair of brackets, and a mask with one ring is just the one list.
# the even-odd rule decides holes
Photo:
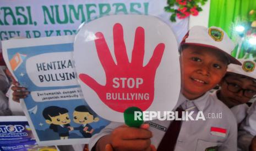
[[(206, 92), (203, 96), (200, 96), (194, 100), (189, 100), (188, 98), (186, 98), (183, 95), (182, 95), (181, 99), (183, 100), (183, 101), (181, 101), (181, 102), (183, 102), (183, 103), (181, 103), (181, 106), (184, 110), (195, 106), (195, 107), (197, 107), (197, 109), (199, 111), (204, 111), (205, 104), (209, 99), (209, 92)], [(191, 105), (191, 104), (193, 104), (193, 105)]]

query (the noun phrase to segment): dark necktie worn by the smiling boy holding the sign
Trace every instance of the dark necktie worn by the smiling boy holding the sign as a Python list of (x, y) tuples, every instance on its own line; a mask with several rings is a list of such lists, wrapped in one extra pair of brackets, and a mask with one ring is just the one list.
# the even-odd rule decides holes
[[(176, 111), (178, 111), (178, 118), (181, 118), (182, 111), (184, 110), (181, 107), (178, 107)], [(173, 151), (175, 149), (176, 141), (179, 135), (179, 130), (181, 130), (181, 120), (172, 121), (167, 131), (165, 132), (165, 136), (162, 138), (157, 151)]]

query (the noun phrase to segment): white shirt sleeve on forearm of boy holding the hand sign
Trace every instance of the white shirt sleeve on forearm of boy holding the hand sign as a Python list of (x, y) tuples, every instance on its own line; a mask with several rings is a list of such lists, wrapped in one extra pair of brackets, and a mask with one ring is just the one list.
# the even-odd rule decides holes
[(111, 122), (104, 129), (102, 129), (100, 133), (93, 135), (89, 141), (89, 150), (91, 150), (92, 147), (95, 146), (95, 144), (101, 137), (109, 135), (116, 127), (121, 126), (123, 124), (124, 123)]

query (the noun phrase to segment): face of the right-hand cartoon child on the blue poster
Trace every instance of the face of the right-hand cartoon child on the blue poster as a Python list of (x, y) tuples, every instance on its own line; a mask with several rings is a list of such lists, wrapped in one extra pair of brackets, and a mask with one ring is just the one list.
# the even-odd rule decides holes
[(74, 122), (79, 124), (88, 124), (94, 122), (94, 116), (89, 112), (78, 112), (73, 113)]

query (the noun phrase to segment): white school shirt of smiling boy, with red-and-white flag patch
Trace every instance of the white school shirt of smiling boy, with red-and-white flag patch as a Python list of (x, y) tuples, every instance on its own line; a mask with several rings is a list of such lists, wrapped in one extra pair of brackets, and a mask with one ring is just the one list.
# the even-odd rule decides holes
[[(182, 121), (182, 127), (179, 132), (175, 151), (202, 151), (217, 147), (219, 151), (223, 150), (237, 150), (237, 123), (233, 113), (226, 107), (224, 103), (214, 100), (214, 97), (206, 92), (203, 96), (190, 101), (182, 94), (179, 95), (176, 107), (182, 106), (183, 109), (192, 108), (194, 111), (192, 117), (196, 117), (199, 111), (202, 111), (206, 120), (198, 121)], [(195, 107), (194, 107), (195, 106)], [(173, 109), (173, 111), (175, 111)], [(222, 114), (222, 118), (208, 118), (209, 114)], [(156, 148), (165, 135), (165, 131), (170, 125), (171, 121), (152, 120), (149, 121), (149, 130), (152, 132), (151, 144)], [(96, 142), (105, 135), (109, 135), (113, 129), (123, 125), (124, 123), (112, 122), (102, 129), (100, 133), (92, 136), (89, 141), (89, 149), (96, 144)], [(226, 133), (218, 133), (211, 131), (214, 127), (216, 129), (226, 130)]]

